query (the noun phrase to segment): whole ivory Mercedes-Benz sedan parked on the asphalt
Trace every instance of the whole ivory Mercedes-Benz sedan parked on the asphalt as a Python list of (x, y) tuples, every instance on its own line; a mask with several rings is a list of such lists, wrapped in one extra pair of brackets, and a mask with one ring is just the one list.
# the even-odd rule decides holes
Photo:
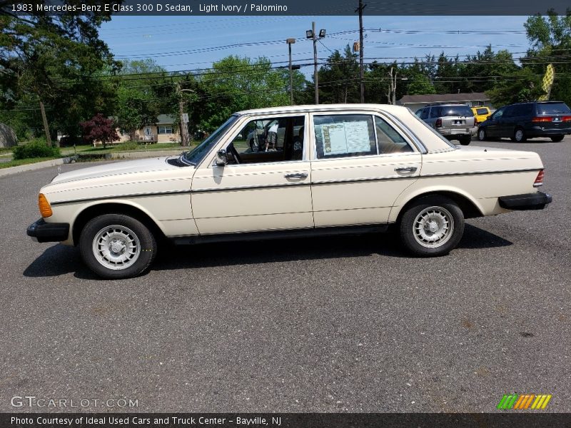
[(537, 153), (454, 146), (408, 108), (266, 108), (234, 114), (181, 156), (57, 175), (41, 188), (42, 218), (27, 233), (79, 245), (106, 278), (145, 271), (159, 238), (189, 244), (395, 225), (411, 253), (437, 256), (458, 244), (465, 218), (544, 208), (551, 196), (537, 191), (542, 180)]

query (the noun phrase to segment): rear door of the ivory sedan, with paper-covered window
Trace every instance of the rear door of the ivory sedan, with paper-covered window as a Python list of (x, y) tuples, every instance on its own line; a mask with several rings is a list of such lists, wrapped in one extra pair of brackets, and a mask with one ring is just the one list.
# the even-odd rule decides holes
[(387, 223), (418, 179), (422, 155), (390, 118), (312, 113), (311, 192), (316, 228)]

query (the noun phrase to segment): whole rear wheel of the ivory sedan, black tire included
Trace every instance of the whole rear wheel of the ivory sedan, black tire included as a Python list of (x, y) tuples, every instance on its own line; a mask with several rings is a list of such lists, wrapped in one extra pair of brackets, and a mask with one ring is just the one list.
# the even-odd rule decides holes
[[(438, 229), (432, 230), (433, 227)], [(410, 253), (420, 257), (446, 255), (462, 239), (464, 213), (450, 198), (426, 196), (407, 208), (399, 230), (400, 239)], [(431, 242), (432, 239), (435, 240)]]

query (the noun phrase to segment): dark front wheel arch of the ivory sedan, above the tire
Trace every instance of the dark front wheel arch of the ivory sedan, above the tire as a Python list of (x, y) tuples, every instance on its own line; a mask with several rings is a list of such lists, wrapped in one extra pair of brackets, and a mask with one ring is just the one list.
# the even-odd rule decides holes
[(151, 233), (155, 235), (156, 239), (165, 237), (165, 233), (158, 225), (158, 222), (153, 219), (151, 215), (149, 215), (143, 208), (125, 202), (102, 202), (94, 203), (93, 205), (85, 207), (76, 216), (73, 228), (71, 230), (71, 238), (74, 245), (79, 243), (79, 235), (81, 234), (81, 230), (84, 229), (87, 222), (89, 222), (89, 220), (92, 218), (103, 214), (128, 215), (130, 217), (136, 218), (136, 220), (139, 220), (141, 223), (143, 223), (143, 225), (146, 225), (148, 230), (151, 230)]

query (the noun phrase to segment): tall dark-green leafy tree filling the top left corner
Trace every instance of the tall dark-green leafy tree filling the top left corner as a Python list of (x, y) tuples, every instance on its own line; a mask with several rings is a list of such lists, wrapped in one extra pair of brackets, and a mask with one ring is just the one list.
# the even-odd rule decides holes
[[(66, 4), (94, 6), (103, 1), (69, 0)], [(26, 17), (0, 16), (1, 107), (14, 108), (21, 99), (33, 100), (35, 106), (45, 104), (54, 125), (51, 133), (56, 128), (77, 133), (81, 118), (105, 110), (112, 96), (96, 76), (105, 66), (116, 67), (108, 47), (98, 38), (98, 27), (109, 19), (110, 12), (50, 16), (36, 9)]]

